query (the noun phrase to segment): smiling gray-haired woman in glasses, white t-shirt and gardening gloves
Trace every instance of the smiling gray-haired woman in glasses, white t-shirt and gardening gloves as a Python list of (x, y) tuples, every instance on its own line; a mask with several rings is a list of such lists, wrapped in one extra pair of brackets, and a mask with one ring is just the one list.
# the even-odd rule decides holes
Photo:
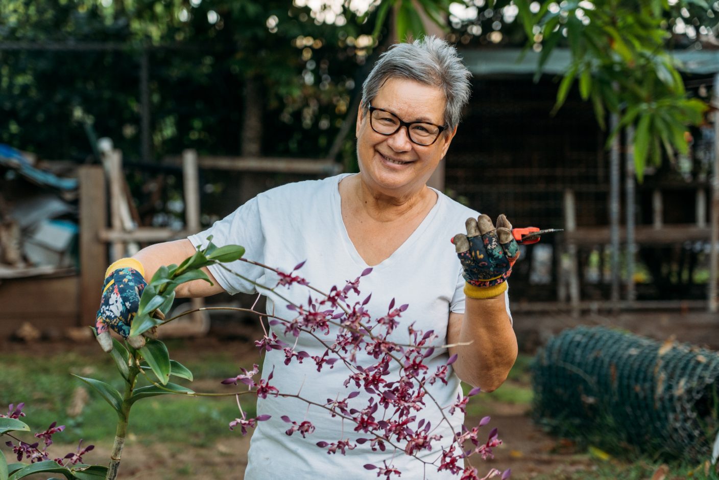
[[(371, 266), (372, 273), (360, 284), (363, 298), (372, 293), (366, 308), (376, 316), (387, 311), (394, 297), (408, 304), (402, 325), (413, 322), (416, 330), (434, 330), (439, 335), (434, 352), (425, 359), (429, 371), (458, 354), (447, 384), (427, 386), (437, 404), (446, 406), (456, 401), (461, 391), (459, 379), (485, 391), (496, 389), (517, 353), (505, 282), (518, 257), (511, 225), (500, 216), (495, 229), (486, 215), (426, 185), (457, 133), (460, 112), (470, 96), (469, 76), (454, 47), (444, 40), (426, 37), (394, 45), (381, 55), (362, 86), (356, 130), (359, 173), (266, 191), (209, 230), (186, 240), (152, 245), (131, 259), (114, 263), (109, 276), (121, 268), (142, 284), (142, 276), (149, 279), (160, 266), (180, 263), (193, 255), (196, 247), (206, 245), (209, 235), (216, 245), (243, 245), (247, 258), (265, 265), (291, 268), (306, 260), (302, 276), (323, 291), (344, 285)], [(453, 249), (449, 240), (465, 219), (467, 235), (454, 236)], [(193, 281), (178, 287), (177, 295), (254, 293), (255, 282), (267, 286), (278, 282), (273, 271), (248, 263), (238, 261), (229, 268), (241, 276), (211, 266), (206, 273), (213, 285)], [(109, 326), (127, 336), (134, 312), (111, 312), (106, 307), (111, 302), (111, 290), (104, 292), (99, 331)], [(303, 304), (308, 291), (295, 285), (282, 294)], [(268, 294), (267, 312), (288, 318), (291, 312), (285, 309), (286, 304), (286, 300)], [(274, 328), (286, 343), (292, 345), (297, 340), (298, 349), (311, 355), (324, 352), (311, 336), (285, 337), (283, 325)], [(100, 335), (101, 343), (109, 340), (108, 335)], [(400, 326), (391, 339), (408, 343), (406, 328)], [(344, 381), (348, 371), (339, 364), (319, 373), (313, 362), (294, 362), (285, 367), (284, 359), (282, 350), (271, 350), (262, 367), (265, 376), (274, 368), (272, 384), (280, 391), (301, 391), (304, 398), (320, 404), (347, 395)], [(357, 398), (360, 404), (361, 400)], [(446, 471), (429, 471), (421, 461), (402, 452), (374, 452), (369, 443), (348, 450), (346, 456), (327, 456), (326, 450), (315, 445), (318, 440), (352, 440), (362, 435), (352, 431), (354, 425), (346, 425), (321, 409), (308, 408), (296, 398), (260, 398), (257, 413), (272, 417), (259, 423), (252, 435), (246, 479), (290, 475), (296, 479), (376, 478), (375, 471), (365, 471), (362, 466), (390, 460), (403, 478), (419, 479), (425, 474), (431, 479), (454, 478)], [(292, 420), (312, 420), (316, 430), (307, 438), (288, 437), (288, 424), (280, 419), (283, 415)], [(444, 446), (463, 422), (459, 409), (447, 416), (452, 427), (441, 422), (434, 402), (427, 402), (418, 415), (439, 425), (434, 433), (443, 436)], [(436, 452), (441, 450), (434, 448), (427, 461), (436, 458)]]

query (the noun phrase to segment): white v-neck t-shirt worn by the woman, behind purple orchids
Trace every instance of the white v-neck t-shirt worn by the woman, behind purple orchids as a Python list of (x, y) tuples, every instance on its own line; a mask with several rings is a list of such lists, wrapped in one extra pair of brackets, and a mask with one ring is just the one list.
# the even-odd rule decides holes
[[(236, 244), (244, 246), (245, 257), (264, 263), (267, 266), (288, 272), (301, 261), (305, 265), (296, 272), (299, 276), (324, 292), (331, 286), (342, 288), (346, 281), (356, 279), (367, 264), (355, 250), (344, 227), (339, 196), (339, 181), (347, 176), (342, 174), (320, 181), (303, 181), (288, 184), (266, 191), (247, 201), (229, 216), (216, 222), (209, 230), (188, 237), (193, 245), (205, 245), (206, 237), (213, 235), (215, 245)], [(372, 268), (372, 272), (362, 277), (359, 283), (361, 294), (351, 294), (352, 304), (372, 294), (365, 306), (372, 318), (381, 317), (388, 312), (390, 301), (395, 298), (396, 305), (408, 304), (409, 307), (400, 317), (400, 325), (390, 335), (397, 343), (410, 343), (407, 327), (414, 323), (415, 330), (434, 330), (439, 335), (434, 353), (426, 358), (429, 372), (444, 365), (449, 356), (446, 348), (446, 330), (449, 312), (464, 312), (464, 279), (462, 267), (449, 240), (458, 232), (464, 231), (464, 221), (468, 217), (477, 217), (477, 212), (437, 191), (437, 202), (423, 222), (412, 235), (385, 261)], [(274, 287), (278, 275), (273, 271), (249, 266), (244, 262), (227, 265), (233, 271), (241, 273), (251, 281)], [(254, 293), (257, 291), (251, 281), (240, 279), (219, 266), (211, 266), (210, 271), (219, 284), (230, 294), (239, 291)], [(279, 286), (277, 292), (296, 304), (306, 305), (308, 296), (319, 295), (306, 286), (295, 284), (290, 288)], [(275, 314), (287, 320), (295, 317), (287, 309), (288, 302), (272, 293), (267, 294), (267, 313)], [(509, 311), (509, 309), (508, 309)], [(265, 322), (265, 325), (267, 323)], [(324, 353), (325, 348), (309, 335), (301, 334), (295, 338), (284, 335), (284, 326), (271, 327), (285, 343), (294, 345), (296, 350), (305, 350), (311, 356)], [(326, 338), (332, 343), (337, 329), (333, 328)], [(321, 335), (321, 334), (320, 334)], [(358, 363), (370, 365), (374, 358), (358, 353)], [(347, 388), (344, 381), (351, 373), (341, 361), (334, 368), (324, 366), (321, 372), (310, 358), (303, 363), (293, 360), (285, 366), (282, 350), (271, 350), (265, 354), (262, 366), (262, 378), (266, 379), (273, 371), (270, 384), (280, 392), (301, 394), (319, 404), (329, 399), (342, 399), (352, 391), (361, 391), (349, 401), (349, 407), (362, 409), (367, 406), (368, 394), (353, 383)], [(398, 378), (398, 366), (392, 363), (390, 378)], [(459, 379), (450, 369), (448, 384), (436, 382), (428, 385), (431, 395), (442, 407), (452, 404), (461, 392)], [(451, 443), (452, 432), (457, 432), (464, 421), (464, 415), (457, 409), (454, 415), (445, 413), (452, 427), (441, 422), (439, 409), (426, 397), (426, 408), (417, 412), (417, 420), (431, 421), (433, 426), (440, 425), (434, 433), (443, 436), (441, 442), (435, 442), (431, 453), (423, 453), (426, 461), (434, 461), (441, 456), (441, 445)], [(395, 465), (406, 479), (452, 479), (449, 472), (437, 472), (434, 466), (425, 466), (403, 451), (394, 452), (389, 447), (385, 452), (372, 452), (370, 444), (357, 445), (347, 450), (347, 455), (336, 453), (328, 455), (326, 448), (316, 443), (336, 442), (339, 439), (354, 440), (368, 438), (370, 435), (354, 432), (354, 424), (339, 417), (332, 418), (324, 409), (309, 407), (305, 402), (294, 398), (268, 396), (257, 399), (257, 415), (272, 415), (270, 420), (258, 422), (249, 448), (249, 457), (245, 479), (277, 479), (290, 476), (293, 479), (376, 479), (376, 470), (365, 470), (366, 463), (383, 465), (383, 461)], [(291, 437), (285, 434), (290, 424), (280, 417), (288, 415), (298, 423), (309, 420), (316, 427), (314, 433), (302, 438), (299, 433)], [(382, 407), (375, 417), (382, 417)], [(354, 443), (354, 441), (353, 441)], [(400, 445), (403, 448), (404, 445)], [(394, 458), (393, 458), (394, 457)]]

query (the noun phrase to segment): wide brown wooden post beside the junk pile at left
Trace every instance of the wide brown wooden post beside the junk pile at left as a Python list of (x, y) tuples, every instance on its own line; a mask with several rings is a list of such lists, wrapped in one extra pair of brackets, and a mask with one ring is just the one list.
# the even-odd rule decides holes
[(107, 267), (107, 245), (99, 238), (107, 224), (105, 175), (102, 168), (83, 165), (80, 181), (80, 309), (78, 325), (94, 325)]

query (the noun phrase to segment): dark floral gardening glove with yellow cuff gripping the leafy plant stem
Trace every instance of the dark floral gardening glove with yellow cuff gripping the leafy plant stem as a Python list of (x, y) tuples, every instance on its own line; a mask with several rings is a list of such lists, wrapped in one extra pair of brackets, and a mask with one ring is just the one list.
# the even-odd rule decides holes
[[(142, 335), (128, 337), (132, 319), (139, 309), (142, 290), (147, 286), (144, 273), (142, 263), (134, 258), (122, 258), (107, 268), (95, 324), (97, 341), (106, 352), (112, 350), (109, 329), (127, 339), (133, 348), (142, 348), (145, 345)], [(154, 333), (154, 330), (148, 331), (145, 335), (152, 336)]]

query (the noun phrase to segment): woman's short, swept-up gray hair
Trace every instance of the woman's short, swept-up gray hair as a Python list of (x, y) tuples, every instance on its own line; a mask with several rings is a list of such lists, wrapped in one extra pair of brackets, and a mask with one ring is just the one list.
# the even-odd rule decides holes
[(470, 76), (457, 49), (434, 35), (397, 43), (380, 55), (362, 84), (362, 108), (369, 108), (385, 81), (407, 78), (444, 91), (444, 123), (452, 131), (462, 117), (462, 107), (470, 100)]

